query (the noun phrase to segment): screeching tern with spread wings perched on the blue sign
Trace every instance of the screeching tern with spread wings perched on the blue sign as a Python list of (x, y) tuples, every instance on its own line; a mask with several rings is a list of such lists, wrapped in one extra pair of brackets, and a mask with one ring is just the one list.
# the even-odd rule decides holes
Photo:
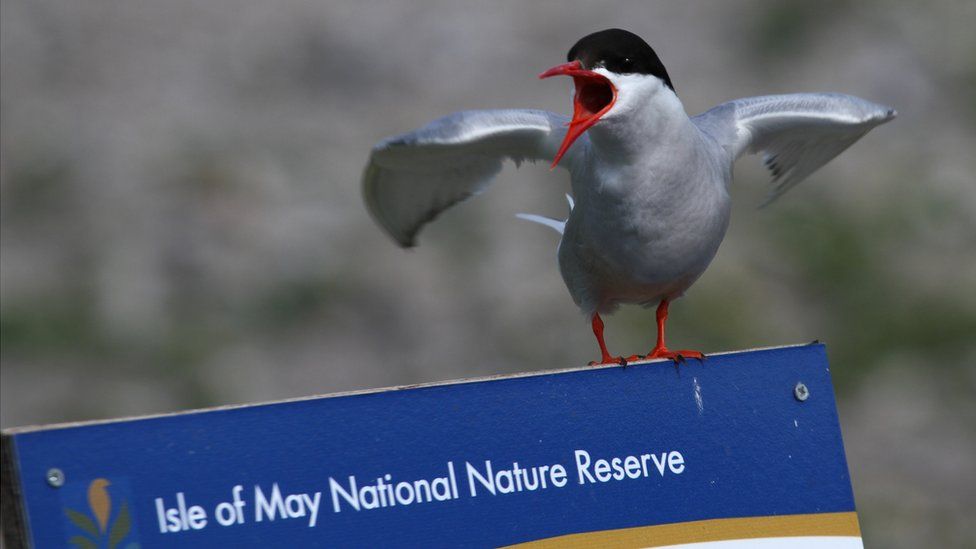
[[(704, 273), (729, 226), (733, 164), (758, 154), (773, 202), (894, 109), (839, 93), (735, 99), (690, 116), (657, 53), (640, 36), (606, 29), (580, 38), (566, 63), (539, 75), (572, 78), (573, 114), (462, 111), (379, 141), (363, 172), (373, 219), (402, 247), (447, 208), (483, 192), (508, 159), (551, 159), (569, 172), (565, 221), (527, 216), (562, 234), (559, 271), (600, 349), (591, 364), (703, 359), (665, 340), (672, 301)], [(575, 204), (574, 204), (575, 202)], [(645, 355), (607, 350), (601, 315), (656, 306)]]

